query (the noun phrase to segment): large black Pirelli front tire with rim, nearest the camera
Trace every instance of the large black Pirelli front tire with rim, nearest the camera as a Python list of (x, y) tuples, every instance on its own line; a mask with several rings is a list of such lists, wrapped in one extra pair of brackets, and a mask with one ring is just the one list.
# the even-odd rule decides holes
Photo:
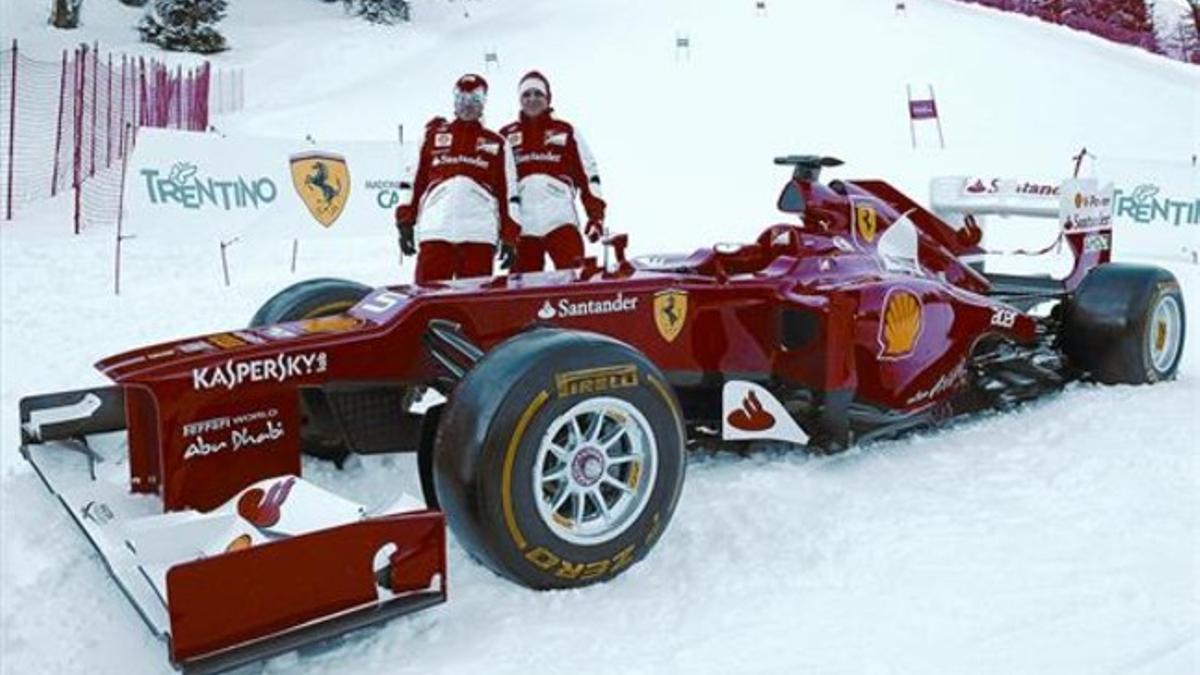
[(455, 388), (433, 482), (458, 542), (532, 589), (612, 579), (662, 534), (683, 488), (684, 425), (659, 369), (593, 333), (522, 333)]

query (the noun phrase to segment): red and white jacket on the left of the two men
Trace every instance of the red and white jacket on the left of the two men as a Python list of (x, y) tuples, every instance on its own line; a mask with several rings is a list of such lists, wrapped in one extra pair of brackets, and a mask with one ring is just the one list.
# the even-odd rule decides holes
[(416, 223), (420, 241), (514, 243), (516, 169), (504, 137), (478, 121), (433, 118), (425, 127), (413, 198), (396, 208), (396, 222)]

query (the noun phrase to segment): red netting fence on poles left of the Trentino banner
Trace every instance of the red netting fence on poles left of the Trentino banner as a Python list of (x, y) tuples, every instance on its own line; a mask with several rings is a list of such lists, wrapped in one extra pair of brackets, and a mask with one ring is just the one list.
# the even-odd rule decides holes
[(59, 61), (0, 50), (0, 215), (76, 192), (74, 229), (115, 222), (120, 169), (140, 126), (209, 129), (240, 110), (241, 71), (168, 67), (155, 59), (64, 50)]

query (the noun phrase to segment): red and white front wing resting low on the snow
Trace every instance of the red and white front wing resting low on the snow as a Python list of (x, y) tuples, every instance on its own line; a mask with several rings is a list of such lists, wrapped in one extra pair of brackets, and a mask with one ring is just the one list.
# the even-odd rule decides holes
[(172, 663), (212, 673), (445, 601), (440, 512), (367, 513), (295, 476), (208, 510), (130, 491), (120, 387), (20, 401), (20, 452)]

